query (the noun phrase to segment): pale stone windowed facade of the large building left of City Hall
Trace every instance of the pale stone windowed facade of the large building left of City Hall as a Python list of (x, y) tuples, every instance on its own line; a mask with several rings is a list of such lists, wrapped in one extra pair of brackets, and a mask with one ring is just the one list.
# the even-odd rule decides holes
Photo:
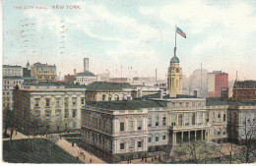
[[(23, 103), (22, 108), (17, 100), (19, 97), (24, 97), (24, 101), (27, 101)], [(86, 103), (83, 88), (65, 88), (64, 85), (22, 85), (15, 101), (16, 111), (23, 113), (29, 110), (26, 116), (38, 118), (46, 132), (81, 128), (81, 108)]]

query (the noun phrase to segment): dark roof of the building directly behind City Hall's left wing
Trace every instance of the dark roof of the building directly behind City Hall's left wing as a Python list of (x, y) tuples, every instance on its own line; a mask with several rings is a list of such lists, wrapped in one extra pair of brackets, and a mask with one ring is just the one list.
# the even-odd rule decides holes
[(123, 91), (123, 88), (131, 88), (130, 83), (108, 83), (108, 82), (95, 82), (87, 86), (87, 90), (92, 91)]

